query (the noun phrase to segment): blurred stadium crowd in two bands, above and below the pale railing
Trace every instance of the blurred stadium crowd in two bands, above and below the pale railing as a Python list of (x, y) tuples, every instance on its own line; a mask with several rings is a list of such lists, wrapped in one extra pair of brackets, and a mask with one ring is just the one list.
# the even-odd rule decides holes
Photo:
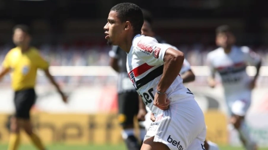
[[(195, 45), (179, 45), (179, 50), (185, 53), (186, 59), (192, 66), (206, 65), (206, 55), (215, 46)], [(251, 47), (251, 46), (250, 46)], [(0, 62), (4, 60), (4, 56), (12, 48), (12, 45), (0, 46)], [(51, 66), (109, 66), (109, 50), (108, 45), (40, 45), (42, 56), (50, 62)], [(268, 47), (251, 47), (255, 52), (259, 53), (263, 60), (263, 66), (268, 66)], [(115, 85), (116, 77), (114, 76), (56, 76), (57, 81), (70, 86), (81, 85)], [(259, 81), (267, 83), (267, 78)], [(198, 78), (197, 83), (204, 84), (205, 78)], [(2, 81), (4, 85), (9, 86), (10, 77), (6, 76)], [(47, 79), (44, 76), (38, 77), (38, 83), (47, 85)]]

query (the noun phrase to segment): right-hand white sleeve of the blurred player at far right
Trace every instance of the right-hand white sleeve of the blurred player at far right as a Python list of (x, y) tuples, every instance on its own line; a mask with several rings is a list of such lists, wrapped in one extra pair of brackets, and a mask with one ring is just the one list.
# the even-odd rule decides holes
[(249, 65), (255, 66), (261, 61), (261, 57), (257, 53), (252, 51), (249, 47), (243, 46), (241, 47), (241, 49), (245, 55), (245, 60)]

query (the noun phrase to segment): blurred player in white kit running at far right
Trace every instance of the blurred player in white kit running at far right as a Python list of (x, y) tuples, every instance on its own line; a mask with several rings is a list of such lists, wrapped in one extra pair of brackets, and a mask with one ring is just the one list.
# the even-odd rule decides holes
[[(256, 142), (250, 136), (245, 123), (245, 115), (251, 104), (251, 91), (255, 87), (261, 58), (246, 46), (235, 46), (235, 36), (228, 25), (216, 29), (216, 50), (208, 53), (210, 76), (208, 84), (216, 86), (216, 71), (221, 76), (224, 95), (229, 111), (230, 122), (239, 132), (240, 139), (248, 150), (256, 150)], [(256, 75), (251, 79), (246, 73), (246, 66), (256, 66)]]

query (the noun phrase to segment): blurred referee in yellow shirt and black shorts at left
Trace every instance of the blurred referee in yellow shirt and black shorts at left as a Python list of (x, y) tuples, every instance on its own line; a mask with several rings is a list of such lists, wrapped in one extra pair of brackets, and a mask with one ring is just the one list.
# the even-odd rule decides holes
[(13, 30), (13, 42), (17, 47), (11, 49), (5, 56), (0, 72), (0, 80), (11, 72), (12, 89), (14, 90), (15, 115), (10, 120), (9, 150), (17, 150), (20, 143), (20, 128), (31, 138), (34, 145), (44, 150), (45, 147), (39, 136), (33, 132), (29, 111), (36, 100), (34, 86), (37, 69), (43, 69), (48, 79), (55, 85), (64, 102), (67, 97), (60, 90), (49, 72), (49, 64), (31, 47), (31, 36), (26, 25), (17, 25)]

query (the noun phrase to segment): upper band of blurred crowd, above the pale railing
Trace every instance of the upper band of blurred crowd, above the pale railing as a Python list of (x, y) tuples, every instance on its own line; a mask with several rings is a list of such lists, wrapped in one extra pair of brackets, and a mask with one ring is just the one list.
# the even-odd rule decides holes
[[(12, 45), (0, 46), (0, 62), (12, 48)], [(111, 49), (106, 45), (41, 45), (37, 47), (51, 66), (108, 66), (108, 52)], [(179, 45), (177, 48), (184, 52), (186, 59), (192, 66), (206, 65), (206, 55), (215, 46)], [(252, 47), (251, 47), (252, 48)], [(268, 66), (268, 47), (252, 48), (263, 60), (263, 66)]]

